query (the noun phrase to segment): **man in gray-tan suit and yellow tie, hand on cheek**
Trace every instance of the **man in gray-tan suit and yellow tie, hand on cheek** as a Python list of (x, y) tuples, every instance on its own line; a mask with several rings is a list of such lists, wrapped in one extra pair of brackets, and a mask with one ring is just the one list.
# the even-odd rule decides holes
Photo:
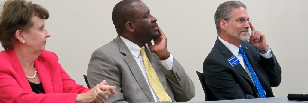
[(168, 52), (166, 36), (143, 2), (119, 2), (112, 20), (118, 36), (93, 52), (87, 70), (91, 87), (102, 79), (117, 87), (106, 103), (182, 102), (195, 96), (193, 81)]

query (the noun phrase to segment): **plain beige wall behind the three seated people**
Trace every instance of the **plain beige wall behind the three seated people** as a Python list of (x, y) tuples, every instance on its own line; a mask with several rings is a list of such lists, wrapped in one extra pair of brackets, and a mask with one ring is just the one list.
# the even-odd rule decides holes
[[(0, 0), (3, 2), (4, 0)], [(92, 52), (116, 37), (112, 9), (120, 0), (33, 0), (47, 8), (45, 21), (51, 33), (46, 50), (59, 56), (64, 70), (84, 86)], [(168, 38), (168, 50), (195, 83), (196, 96), (204, 101), (196, 71), (217, 38), (214, 13), (226, 0), (144, 0)], [(241, 0), (247, 5), (254, 27), (266, 35), (282, 68), (282, 82), (273, 87), (276, 97), (308, 93), (306, 33), (307, 0)], [(2, 48), (0, 50), (3, 50)]]

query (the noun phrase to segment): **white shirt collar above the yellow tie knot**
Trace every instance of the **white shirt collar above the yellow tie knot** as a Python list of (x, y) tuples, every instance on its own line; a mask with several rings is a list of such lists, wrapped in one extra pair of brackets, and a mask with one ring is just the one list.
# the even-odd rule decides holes
[[(133, 56), (138, 57), (140, 53), (140, 47), (129, 41), (128, 39), (125, 39), (124, 37), (120, 36), (120, 38), (122, 39), (122, 41), (124, 42), (124, 44), (127, 46), (128, 50), (132, 53)], [(144, 46), (142, 46), (142, 48), (144, 48)]]

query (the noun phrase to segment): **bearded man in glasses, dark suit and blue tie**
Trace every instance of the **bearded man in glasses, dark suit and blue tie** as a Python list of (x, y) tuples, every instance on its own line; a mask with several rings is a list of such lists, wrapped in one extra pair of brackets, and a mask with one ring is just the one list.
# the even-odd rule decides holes
[(281, 68), (265, 35), (251, 22), (242, 2), (224, 2), (217, 8), (218, 37), (203, 64), (214, 100), (274, 97), (271, 86), (279, 86)]

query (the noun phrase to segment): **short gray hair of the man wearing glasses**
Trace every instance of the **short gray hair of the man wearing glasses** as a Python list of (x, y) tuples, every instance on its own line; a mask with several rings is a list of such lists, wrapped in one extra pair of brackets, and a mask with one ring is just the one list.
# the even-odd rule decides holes
[(246, 5), (239, 1), (228, 1), (220, 4), (215, 13), (215, 24), (218, 36), (221, 34), (220, 20), (230, 19), (232, 16), (232, 10), (243, 7), (246, 9)]

